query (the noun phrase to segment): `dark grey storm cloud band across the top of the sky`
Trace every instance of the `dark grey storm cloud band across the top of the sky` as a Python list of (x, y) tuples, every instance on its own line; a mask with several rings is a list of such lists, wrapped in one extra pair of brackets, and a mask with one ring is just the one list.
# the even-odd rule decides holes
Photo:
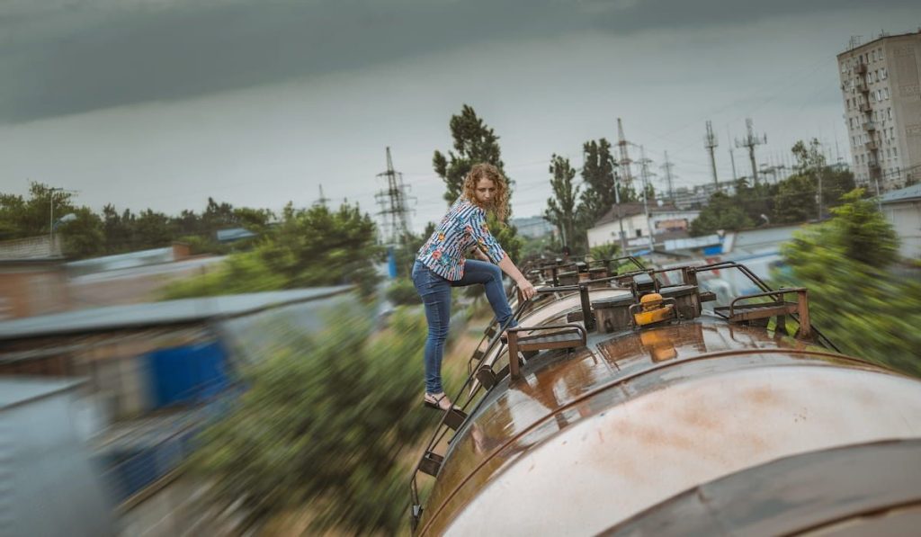
[[(914, 3), (890, 0), (873, 8)], [(360, 69), (475, 41), (699, 28), (866, 6), (866, 0), (200, 0), (195, 6), (18, 0), (0, 6), (0, 123)]]

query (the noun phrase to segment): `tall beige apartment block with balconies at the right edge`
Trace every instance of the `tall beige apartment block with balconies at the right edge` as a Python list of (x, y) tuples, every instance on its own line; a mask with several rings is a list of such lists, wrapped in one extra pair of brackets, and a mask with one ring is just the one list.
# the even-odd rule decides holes
[(857, 184), (889, 191), (921, 181), (921, 29), (852, 40), (837, 58)]

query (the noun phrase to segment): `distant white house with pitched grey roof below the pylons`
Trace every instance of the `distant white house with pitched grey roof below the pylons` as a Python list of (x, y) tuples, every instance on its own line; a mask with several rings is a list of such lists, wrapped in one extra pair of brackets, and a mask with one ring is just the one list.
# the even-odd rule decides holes
[(687, 230), (698, 215), (699, 210), (679, 209), (674, 204), (664, 203), (649, 204), (647, 218), (643, 204), (614, 205), (593, 228), (589, 228), (589, 247), (619, 243), (623, 226), (627, 250), (647, 249), (650, 231), (655, 244), (662, 244), (666, 239), (687, 237)]

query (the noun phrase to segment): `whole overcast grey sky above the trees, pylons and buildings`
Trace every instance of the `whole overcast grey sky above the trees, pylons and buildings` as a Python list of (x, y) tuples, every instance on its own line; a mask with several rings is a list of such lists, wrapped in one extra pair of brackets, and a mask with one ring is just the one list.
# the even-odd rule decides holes
[(676, 185), (710, 181), (706, 120), (720, 179), (746, 117), (760, 162), (812, 136), (849, 160), (835, 54), (919, 26), (916, 0), (5, 0), (0, 192), (176, 214), (322, 184), (374, 213), (391, 146), (418, 229), (445, 208), (431, 158), (464, 103), (501, 137), (515, 216), (542, 213), (553, 153), (581, 166), (618, 117), (657, 188), (665, 151)]

